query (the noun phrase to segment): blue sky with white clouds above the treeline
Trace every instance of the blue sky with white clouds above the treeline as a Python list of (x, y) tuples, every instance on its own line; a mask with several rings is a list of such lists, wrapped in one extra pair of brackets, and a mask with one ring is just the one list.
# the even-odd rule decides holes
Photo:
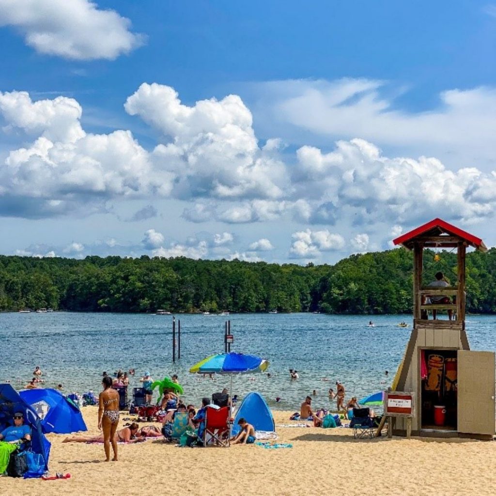
[(0, 0), (0, 253), (496, 245), (496, 3)]

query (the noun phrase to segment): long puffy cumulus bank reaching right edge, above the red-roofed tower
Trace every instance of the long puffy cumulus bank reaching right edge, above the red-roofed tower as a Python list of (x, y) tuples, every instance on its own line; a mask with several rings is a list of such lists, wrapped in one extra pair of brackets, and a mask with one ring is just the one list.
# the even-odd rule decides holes
[(471, 221), (496, 210), (496, 174), (476, 168), (453, 172), (435, 158), (388, 158), (362, 139), (338, 141), (329, 153), (306, 146), (297, 157), (314, 210), (329, 199), (334, 217), (354, 212), (356, 224), (411, 225), (441, 215)]

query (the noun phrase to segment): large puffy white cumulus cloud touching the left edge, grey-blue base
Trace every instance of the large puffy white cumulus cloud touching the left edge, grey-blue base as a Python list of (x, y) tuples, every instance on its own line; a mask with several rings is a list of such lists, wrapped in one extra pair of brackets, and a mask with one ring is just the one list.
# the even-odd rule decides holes
[(113, 197), (169, 195), (173, 176), (156, 170), (130, 131), (88, 134), (70, 98), (33, 102), (25, 92), (0, 93), (7, 127), (38, 136), (0, 165), (0, 214), (44, 217), (105, 210)]

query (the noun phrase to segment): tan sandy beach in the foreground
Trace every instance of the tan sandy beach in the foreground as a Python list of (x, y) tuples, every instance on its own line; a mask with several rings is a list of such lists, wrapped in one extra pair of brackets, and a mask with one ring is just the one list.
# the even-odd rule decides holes
[[(97, 408), (82, 409), (88, 434), (98, 434)], [(125, 415), (124, 415), (125, 416)], [(274, 412), (276, 424), (290, 413)], [(121, 425), (123, 422), (121, 422)], [(142, 424), (144, 425), (144, 424)], [(50, 471), (68, 480), (1, 478), (0, 494), (80, 495), (474, 495), (496, 484), (495, 444), (462, 439), (354, 439), (351, 429), (276, 428), (278, 442), (178, 448), (162, 440), (119, 445), (118, 462), (103, 446), (62, 443), (49, 434)]]

